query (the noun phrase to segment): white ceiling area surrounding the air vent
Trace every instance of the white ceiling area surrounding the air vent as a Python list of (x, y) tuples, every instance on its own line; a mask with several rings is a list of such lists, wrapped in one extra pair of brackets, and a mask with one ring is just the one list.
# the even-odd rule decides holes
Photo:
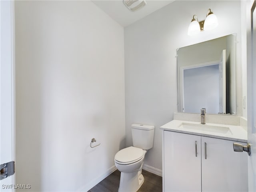
[(135, 12), (128, 10), (123, 0), (92, 0), (92, 2), (113, 20), (126, 27), (171, 2), (174, 2), (174, 0), (146, 0), (146, 6)]

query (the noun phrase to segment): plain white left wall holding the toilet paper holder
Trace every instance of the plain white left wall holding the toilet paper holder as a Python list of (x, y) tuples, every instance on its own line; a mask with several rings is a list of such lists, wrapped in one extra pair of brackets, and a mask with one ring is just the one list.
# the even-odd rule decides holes
[(90, 1), (16, 1), (15, 15), (16, 184), (89, 190), (125, 146), (124, 29)]

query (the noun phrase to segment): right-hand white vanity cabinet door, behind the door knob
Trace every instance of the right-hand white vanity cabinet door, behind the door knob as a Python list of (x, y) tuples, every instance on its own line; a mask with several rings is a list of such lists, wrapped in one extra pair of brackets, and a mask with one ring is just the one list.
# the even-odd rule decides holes
[(234, 152), (233, 142), (202, 137), (202, 192), (248, 191), (248, 154)]

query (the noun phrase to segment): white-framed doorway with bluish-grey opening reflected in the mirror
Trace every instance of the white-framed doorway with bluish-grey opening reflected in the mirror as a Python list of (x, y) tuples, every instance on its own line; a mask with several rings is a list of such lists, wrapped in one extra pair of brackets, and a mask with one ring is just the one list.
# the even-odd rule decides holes
[(180, 67), (183, 112), (200, 112), (201, 108), (206, 108), (207, 113), (220, 112), (219, 63), (220, 60)]

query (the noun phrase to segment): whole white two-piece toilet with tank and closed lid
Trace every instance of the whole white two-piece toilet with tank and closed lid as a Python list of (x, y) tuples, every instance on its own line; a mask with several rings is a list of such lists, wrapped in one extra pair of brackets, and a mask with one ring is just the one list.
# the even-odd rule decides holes
[(144, 182), (142, 165), (147, 150), (153, 147), (155, 127), (132, 124), (133, 146), (118, 151), (116, 168), (121, 172), (118, 192), (136, 192)]

